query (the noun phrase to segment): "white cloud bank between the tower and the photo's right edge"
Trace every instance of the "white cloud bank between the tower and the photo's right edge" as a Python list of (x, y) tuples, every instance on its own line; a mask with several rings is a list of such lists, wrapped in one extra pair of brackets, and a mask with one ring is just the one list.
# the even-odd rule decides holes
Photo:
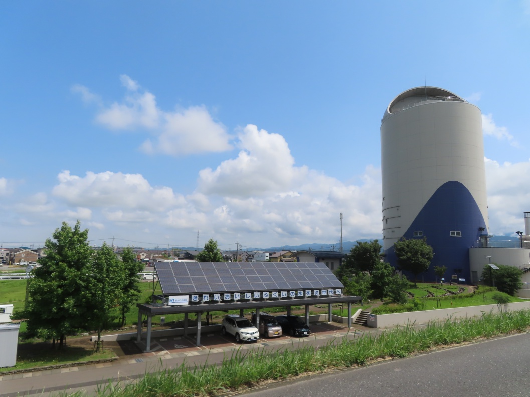
[(485, 168), (490, 232), (511, 235), (522, 230), (523, 213), (530, 211), (530, 160), (500, 164), (487, 158)]

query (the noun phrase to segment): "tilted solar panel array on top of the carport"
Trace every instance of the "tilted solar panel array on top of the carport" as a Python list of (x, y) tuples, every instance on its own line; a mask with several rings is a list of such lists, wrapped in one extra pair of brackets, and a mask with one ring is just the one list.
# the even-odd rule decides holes
[(343, 288), (323, 263), (155, 262), (165, 294)]

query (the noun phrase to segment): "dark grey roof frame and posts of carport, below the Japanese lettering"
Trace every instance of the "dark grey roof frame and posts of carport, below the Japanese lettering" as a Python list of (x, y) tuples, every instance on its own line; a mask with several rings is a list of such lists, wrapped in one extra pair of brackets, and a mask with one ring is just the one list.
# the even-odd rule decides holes
[[(309, 306), (315, 304), (328, 304), (329, 321), (331, 322), (331, 305), (333, 303), (348, 303), (348, 328), (351, 328), (351, 304), (360, 302), (363, 303), (359, 296), (336, 296), (336, 297), (318, 297), (318, 298), (304, 298), (304, 299), (290, 299), (278, 301), (249, 301), (249, 302), (234, 302), (234, 303), (213, 303), (213, 304), (197, 304), (187, 306), (160, 306), (151, 304), (137, 304), (138, 307), (138, 329), (137, 341), (142, 341), (142, 316), (147, 315), (147, 338), (145, 353), (151, 351), (151, 328), (154, 315), (169, 315), (169, 314), (184, 314), (184, 337), (188, 332), (188, 315), (189, 313), (197, 313), (197, 334), (196, 346), (200, 346), (200, 331), (201, 331), (201, 317), (204, 312), (211, 311), (229, 311), (239, 310), (240, 315), (244, 315), (245, 310), (255, 310), (259, 313), (263, 309), (277, 308), (287, 306), (287, 315), (291, 315), (291, 306), (305, 306), (305, 321), (309, 324)], [(259, 320), (258, 320), (259, 321)]]

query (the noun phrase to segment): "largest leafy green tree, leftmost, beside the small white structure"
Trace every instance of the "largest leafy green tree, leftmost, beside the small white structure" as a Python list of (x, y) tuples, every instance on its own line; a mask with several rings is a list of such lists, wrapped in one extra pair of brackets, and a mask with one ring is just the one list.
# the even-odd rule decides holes
[(89, 315), (89, 285), (92, 282), (93, 250), (87, 241), (89, 231), (63, 222), (47, 239), (40, 267), (33, 269), (28, 286), (29, 301), (16, 318), (27, 320), (27, 337), (59, 341), (85, 328)]

